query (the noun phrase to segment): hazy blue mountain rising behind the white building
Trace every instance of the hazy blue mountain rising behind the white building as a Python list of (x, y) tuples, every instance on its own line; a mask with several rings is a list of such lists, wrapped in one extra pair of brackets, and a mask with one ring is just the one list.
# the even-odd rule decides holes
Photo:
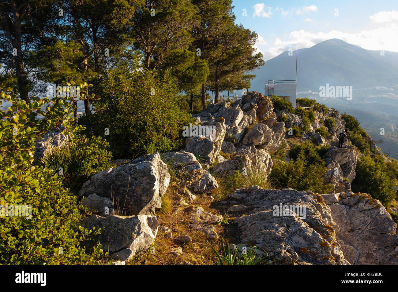
[[(298, 49), (297, 90), (318, 91), (326, 83), (355, 88), (398, 84), (398, 52), (365, 50), (340, 39)], [(289, 51), (255, 70), (250, 90), (264, 92), (266, 80), (296, 78), (296, 54)]]

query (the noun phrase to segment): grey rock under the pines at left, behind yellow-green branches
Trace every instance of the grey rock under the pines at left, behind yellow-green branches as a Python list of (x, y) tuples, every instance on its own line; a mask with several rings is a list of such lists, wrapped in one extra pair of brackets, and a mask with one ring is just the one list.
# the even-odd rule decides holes
[(71, 139), (70, 135), (63, 135), (63, 124), (47, 132), (41, 139), (35, 142), (34, 162), (37, 163), (44, 155), (51, 153), (55, 148), (65, 146)]

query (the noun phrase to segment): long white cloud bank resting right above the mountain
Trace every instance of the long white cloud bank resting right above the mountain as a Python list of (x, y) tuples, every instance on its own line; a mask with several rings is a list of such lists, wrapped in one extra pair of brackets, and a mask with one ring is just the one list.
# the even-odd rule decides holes
[(388, 50), (397, 52), (398, 48), (398, 23), (388, 23), (385, 27), (377, 29), (363, 30), (357, 33), (345, 33), (342, 31), (329, 32), (310, 32), (310, 31), (292, 31), (287, 40), (276, 38), (270, 43), (270, 46), (263, 48), (264, 60), (269, 60), (293, 48), (296, 43), (299, 48), (310, 48), (315, 44), (328, 39), (341, 39), (349, 44), (355, 44), (367, 50)]

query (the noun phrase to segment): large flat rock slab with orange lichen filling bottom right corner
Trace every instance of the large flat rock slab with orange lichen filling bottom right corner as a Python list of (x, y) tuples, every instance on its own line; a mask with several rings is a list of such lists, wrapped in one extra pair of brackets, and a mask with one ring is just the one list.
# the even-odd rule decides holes
[(273, 264), (398, 264), (396, 224), (369, 194), (253, 186), (225, 200), (239, 243), (266, 251)]

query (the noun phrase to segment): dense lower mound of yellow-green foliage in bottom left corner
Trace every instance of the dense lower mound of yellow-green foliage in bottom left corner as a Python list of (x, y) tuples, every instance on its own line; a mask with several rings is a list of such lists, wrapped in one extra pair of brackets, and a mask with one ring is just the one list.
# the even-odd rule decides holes
[(31, 219), (30, 216), (0, 219), (0, 262), (96, 264), (95, 259), (101, 255), (100, 244), (94, 247), (91, 255), (81, 246), (100, 231), (90, 232), (80, 227), (80, 221), (89, 214), (88, 208), (78, 209), (76, 197), (63, 188), (52, 170), (33, 166), (15, 174), (17, 178), (23, 176), (23, 180), (16, 179), (9, 186), (18, 191), (18, 198), (8, 199), (12, 194), (7, 190), (1, 204), (31, 206)]

